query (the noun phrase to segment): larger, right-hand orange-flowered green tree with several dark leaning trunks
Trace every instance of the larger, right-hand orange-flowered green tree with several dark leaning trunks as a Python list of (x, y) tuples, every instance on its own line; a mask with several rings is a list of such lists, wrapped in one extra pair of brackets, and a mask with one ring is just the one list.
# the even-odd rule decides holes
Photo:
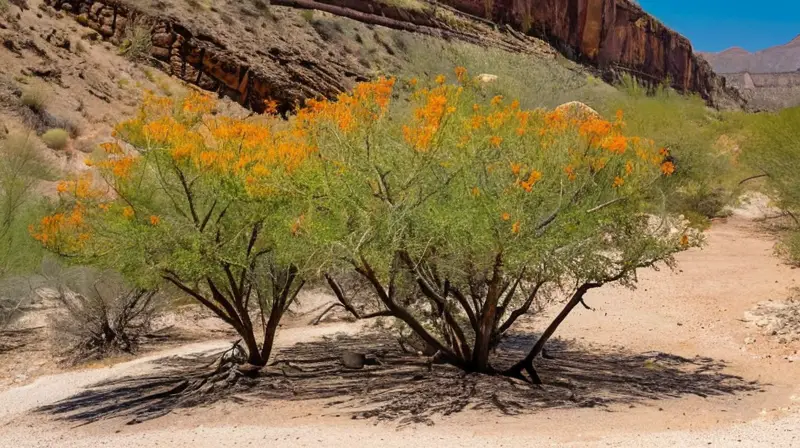
[(456, 76), (425, 88), (379, 80), (312, 102), (318, 153), (303, 169), (315, 174), (292, 181), (308, 181), (297, 188), (319, 204), (306, 222), (329, 239), (311, 243), (333, 260), (327, 279), (345, 308), (362, 315), (336, 280), (355, 272), (378, 298), (371, 315), (394, 317), (444, 362), (499, 372), (491, 353), (515, 322), (565, 301), (504, 371), (538, 382), (533, 359), (589, 290), (632, 286), (637, 269), (671, 265), (698, 238), (651, 205), (670, 194), (675, 166), (655, 142), (624, 134), (622, 112), (522, 110), (482, 98), (464, 69)]

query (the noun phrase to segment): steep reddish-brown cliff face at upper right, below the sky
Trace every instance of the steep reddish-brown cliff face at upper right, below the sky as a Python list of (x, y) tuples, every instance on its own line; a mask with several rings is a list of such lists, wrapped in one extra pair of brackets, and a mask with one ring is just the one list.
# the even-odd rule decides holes
[(608, 75), (627, 72), (706, 100), (740, 102), (688, 39), (628, 0), (443, 0), (542, 37)]

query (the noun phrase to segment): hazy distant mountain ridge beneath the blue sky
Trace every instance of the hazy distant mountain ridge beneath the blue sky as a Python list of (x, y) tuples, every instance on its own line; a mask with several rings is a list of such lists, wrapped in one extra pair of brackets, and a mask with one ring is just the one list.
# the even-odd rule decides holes
[(788, 73), (800, 70), (800, 34), (784, 45), (755, 53), (733, 47), (719, 53), (700, 53), (720, 74)]

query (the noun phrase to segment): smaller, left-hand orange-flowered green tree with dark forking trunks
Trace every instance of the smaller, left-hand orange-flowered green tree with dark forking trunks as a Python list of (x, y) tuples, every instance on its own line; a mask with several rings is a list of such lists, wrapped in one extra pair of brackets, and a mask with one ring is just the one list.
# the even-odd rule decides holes
[(102, 181), (61, 182), (61, 209), (31, 231), (136, 286), (174, 285), (233, 327), (248, 363), (263, 367), (314, 258), (300, 241), (305, 202), (285, 188), (313, 148), (301, 122), (224, 117), (215, 107), (199, 93), (147, 94), (117, 126), (119, 141), (88, 162)]

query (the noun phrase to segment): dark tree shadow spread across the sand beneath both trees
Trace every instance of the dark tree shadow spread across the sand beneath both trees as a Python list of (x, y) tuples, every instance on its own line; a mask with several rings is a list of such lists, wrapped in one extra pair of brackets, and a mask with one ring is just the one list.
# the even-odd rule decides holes
[[(507, 338), (494, 364), (510, 365), (534, 341), (531, 335)], [(378, 364), (346, 369), (339, 359), (347, 351), (374, 355)], [(240, 378), (230, 387), (209, 385), (201, 393), (184, 396), (180, 392), (191, 381), (187, 378), (208, 371), (218, 354), (170, 357), (159, 361), (158, 374), (95, 384), (39, 412), (79, 424), (119, 417), (135, 423), (176, 408), (220, 400), (258, 405), (275, 399), (327, 399), (326, 406), (351, 412), (353, 418), (431, 424), (432, 417), (468, 408), (516, 415), (545, 408), (708, 397), (761, 388), (755, 381), (724, 373), (725, 363), (710, 358), (630, 353), (560, 340), (549, 343), (548, 351), (552, 359), (537, 360), (546, 384), (534, 387), (502, 376), (431, 365), (428, 358), (403, 353), (385, 336), (340, 335), (283, 349), (262, 375)]]

